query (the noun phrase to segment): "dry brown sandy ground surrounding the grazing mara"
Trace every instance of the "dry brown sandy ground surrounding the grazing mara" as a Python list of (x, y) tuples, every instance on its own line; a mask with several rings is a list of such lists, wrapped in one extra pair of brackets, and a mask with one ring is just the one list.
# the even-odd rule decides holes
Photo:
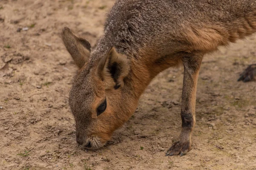
[(60, 31), (68, 26), (95, 45), (113, 2), (0, 0), (0, 169), (255, 170), (256, 82), (236, 81), (256, 63), (255, 35), (204, 58), (187, 155), (165, 156), (180, 133), (182, 68), (151, 82), (107, 146), (78, 147), (68, 105), (76, 66)]

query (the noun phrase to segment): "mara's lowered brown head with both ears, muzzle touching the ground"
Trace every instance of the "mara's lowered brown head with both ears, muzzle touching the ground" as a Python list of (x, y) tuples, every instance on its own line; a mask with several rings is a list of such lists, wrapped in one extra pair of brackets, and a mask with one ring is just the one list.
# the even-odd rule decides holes
[(137, 107), (126, 80), (128, 58), (110, 48), (91, 60), (90, 43), (64, 28), (62, 40), (79, 67), (70, 91), (70, 108), (76, 121), (76, 141), (87, 149), (102, 147)]

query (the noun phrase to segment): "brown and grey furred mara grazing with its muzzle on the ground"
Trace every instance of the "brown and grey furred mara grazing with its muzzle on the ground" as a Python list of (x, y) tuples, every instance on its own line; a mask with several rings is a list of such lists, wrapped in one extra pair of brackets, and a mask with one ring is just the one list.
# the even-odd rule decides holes
[[(204, 54), (255, 31), (255, 0), (117, 0), (93, 50), (64, 28), (62, 39), (80, 68), (70, 91), (77, 142), (102, 147), (133, 114), (151, 80), (182, 63), (182, 129), (166, 155), (186, 154)], [(254, 73), (252, 67), (248, 71)], [(99, 114), (105, 100), (106, 110)]]

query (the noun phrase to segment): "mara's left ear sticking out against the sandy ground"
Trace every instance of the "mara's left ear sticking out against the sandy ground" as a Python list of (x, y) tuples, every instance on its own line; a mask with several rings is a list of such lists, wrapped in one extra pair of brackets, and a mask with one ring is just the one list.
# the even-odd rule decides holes
[(61, 37), (76, 65), (82, 68), (90, 56), (90, 43), (76, 37), (67, 27), (63, 28)]

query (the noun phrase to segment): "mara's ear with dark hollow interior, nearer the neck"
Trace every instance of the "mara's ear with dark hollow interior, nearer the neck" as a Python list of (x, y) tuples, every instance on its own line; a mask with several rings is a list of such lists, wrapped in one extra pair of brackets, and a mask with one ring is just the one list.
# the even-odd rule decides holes
[(112, 47), (99, 61), (96, 73), (108, 88), (118, 89), (124, 85), (124, 78), (129, 71), (130, 65), (126, 55), (117, 53), (116, 48)]

